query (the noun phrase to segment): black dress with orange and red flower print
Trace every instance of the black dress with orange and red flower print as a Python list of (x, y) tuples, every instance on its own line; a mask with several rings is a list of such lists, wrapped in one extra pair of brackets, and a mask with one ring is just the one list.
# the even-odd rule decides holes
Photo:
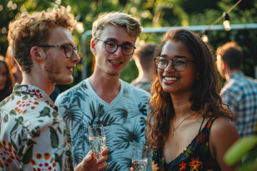
[(155, 149), (152, 154), (153, 171), (190, 170), (190, 171), (214, 171), (221, 170), (217, 162), (211, 156), (209, 148), (209, 135), (211, 125), (216, 118), (208, 120), (203, 129), (196, 135), (196, 138), (186, 147), (183, 152), (170, 163), (166, 163), (162, 150)]

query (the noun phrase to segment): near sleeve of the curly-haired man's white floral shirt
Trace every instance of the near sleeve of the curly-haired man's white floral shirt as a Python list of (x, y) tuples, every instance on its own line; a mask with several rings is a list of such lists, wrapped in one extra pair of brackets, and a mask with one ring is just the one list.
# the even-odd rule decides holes
[[(35, 113), (34, 113), (35, 114)], [(66, 125), (50, 107), (24, 120), (26, 144), (21, 147), (22, 170), (69, 170), (66, 165)]]

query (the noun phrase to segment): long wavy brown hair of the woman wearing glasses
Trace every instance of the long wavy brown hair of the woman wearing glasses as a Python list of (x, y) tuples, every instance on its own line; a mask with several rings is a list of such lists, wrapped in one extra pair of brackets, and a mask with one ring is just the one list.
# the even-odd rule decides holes
[[(189, 98), (189, 102), (192, 104), (191, 110), (198, 111), (203, 118), (211, 115), (222, 116), (232, 121), (233, 113), (227, 109), (228, 105), (224, 106), (218, 93), (220, 84), (211, 48), (196, 33), (186, 29), (173, 29), (164, 34), (154, 56), (160, 56), (165, 43), (171, 40), (183, 42), (196, 64), (198, 80), (195, 82), (193, 93)], [(157, 72), (151, 86), (150, 108), (151, 112), (146, 119), (146, 142), (151, 148), (160, 148), (167, 136), (174, 108), (171, 95), (161, 87)]]

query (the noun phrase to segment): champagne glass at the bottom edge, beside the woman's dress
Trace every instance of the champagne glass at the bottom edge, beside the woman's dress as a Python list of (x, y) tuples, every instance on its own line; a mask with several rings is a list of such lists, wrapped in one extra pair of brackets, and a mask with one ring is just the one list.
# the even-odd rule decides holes
[(132, 148), (132, 167), (135, 171), (146, 171), (148, 147), (136, 145)]

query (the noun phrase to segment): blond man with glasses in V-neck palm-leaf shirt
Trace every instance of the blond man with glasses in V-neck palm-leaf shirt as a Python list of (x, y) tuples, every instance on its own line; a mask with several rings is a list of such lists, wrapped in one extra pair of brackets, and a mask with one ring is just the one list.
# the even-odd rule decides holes
[(119, 77), (129, 63), (140, 22), (128, 14), (101, 14), (93, 23), (91, 52), (94, 73), (56, 98), (73, 145), (74, 165), (91, 149), (88, 128), (104, 125), (109, 147), (106, 170), (129, 170), (133, 145), (145, 142), (145, 120), (150, 94)]

